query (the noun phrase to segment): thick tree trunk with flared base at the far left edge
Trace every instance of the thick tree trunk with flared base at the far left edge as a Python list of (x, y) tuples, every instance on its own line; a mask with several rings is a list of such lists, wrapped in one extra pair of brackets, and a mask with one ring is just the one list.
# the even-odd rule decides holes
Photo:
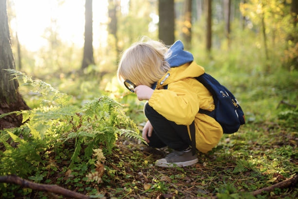
[[(5, 71), (16, 69), (6, 6), (6, 0), (0, 0), (0, 114), (30, 109), (19, 94), (18, 80), (11, 80), (13, 77)], [(21, 115), (12, 114), (0, 119), (0, 129), (19, 127), (21, 124)]]

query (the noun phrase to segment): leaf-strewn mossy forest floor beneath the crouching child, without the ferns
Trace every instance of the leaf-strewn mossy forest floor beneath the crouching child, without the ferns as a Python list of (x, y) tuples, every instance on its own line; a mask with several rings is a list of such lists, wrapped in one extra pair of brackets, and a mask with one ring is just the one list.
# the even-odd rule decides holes
[[(121, 137), (106, 157), (103, 182), (81, 179), (86, 173), (83, 167), (71, 175), (58, 169), (46, 181), (102, 199), (296, 199), (297, 184), (258, 196), (253, 193), (297, 174), (297, 126), (281, 125), (245, 124), (238, 133), (224, 135), (209, 153), (198, 153), (199, 162), (187, 167), (157, 167), (154, 161), (163, 158), (168, 148), (152, 149)], [(64, 147), (71, 150), (72, 146)], [(57, 168), (63, 167), (61, 161)], [(61, 198), (34, 190), (25, 197), (15, 193), (15, 197)]]

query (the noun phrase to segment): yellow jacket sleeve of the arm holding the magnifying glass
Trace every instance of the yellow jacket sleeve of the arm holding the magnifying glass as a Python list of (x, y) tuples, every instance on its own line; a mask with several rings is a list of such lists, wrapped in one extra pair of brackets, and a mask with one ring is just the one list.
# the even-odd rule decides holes
[(199, 111), (200, 100), (196, 80), (180, 80), (168, 85), (168, 89), (154, 90), (149, 105), (166, 119), (177, 124), (190, 125)]

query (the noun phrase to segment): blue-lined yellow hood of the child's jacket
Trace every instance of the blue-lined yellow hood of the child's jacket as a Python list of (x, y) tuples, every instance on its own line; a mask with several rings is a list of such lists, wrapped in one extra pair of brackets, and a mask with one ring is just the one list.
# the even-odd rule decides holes
[(194, 61), (193, 55), (184, 50), (184, 45), (180, 40), (176, 41), (169, 48), (166, 60), (170, 64), (171, 69), (157, 82), (157, 85), (154, 84), (152, 86), (153, 89), (156, 86), (160, 88), (171, 82), (198, 77), (205, 73), (204, 68)]

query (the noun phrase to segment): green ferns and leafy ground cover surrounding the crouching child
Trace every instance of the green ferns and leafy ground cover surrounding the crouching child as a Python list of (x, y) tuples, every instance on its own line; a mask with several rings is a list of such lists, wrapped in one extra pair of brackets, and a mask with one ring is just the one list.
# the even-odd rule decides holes
[[(118, 99), (124, 106), (107, 96), (70, 103), (71, 96), (51, 85), (10, 72), (24, 81), (23, 86), (33, 88), (35, 95), (30, 97), (38, 106), (19, 112), (24, 120), (21, 127), (0, 131), (0, 175), (57, 184), (93, 198), (298, 197), (297, 185), (256, 197), (251, 194), (298, 172), (295, 74), (263, 77), (255, 89), (250, 85), (257, 83), (249, 76), (242, 81), (231, 76), (226, 82), (241, 99), (247, 123), (239, 132), (224, 135), (212, 151), (198, 153), (197, 164), (161, 168), (154, 161), (170, 149), (152, 149), (141, 142), (143, 103), (133, 94)], [(211, 74), (221, 77), (221, 71)], [(282, 85), (269, 85), (272, 78)], [(63, 198), (6, 183), (0, 184), (0, 193), (2, 198)]]

